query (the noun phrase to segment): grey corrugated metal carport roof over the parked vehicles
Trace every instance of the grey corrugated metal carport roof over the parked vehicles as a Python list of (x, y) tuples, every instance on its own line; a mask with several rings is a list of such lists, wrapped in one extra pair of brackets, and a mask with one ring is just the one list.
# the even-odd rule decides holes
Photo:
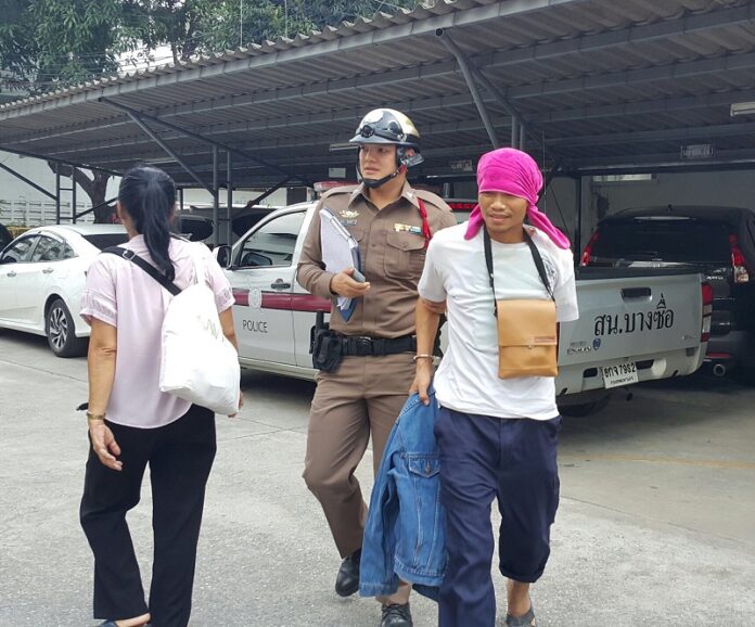
[[(327, 178), (360, 117), (393, 106), (422, 133), (424, 175), (490, 149), (450, 38), (495, 87), (481, 89), (499, 140), (511, 105), (526, 148), (562, 168), (683, 165), (709, 143), (712, 166), (755, 163), (755, 9), (746, 0), (438, 0), (149, 72), (0, 105), (0, 148), (123, 171), (164, 151), (101, 98), (242, 151), (236, 184)], [(498, 100), (503, 94), (508, 102)], [(145, 120), (206, 180), (212, 146)], [(225, 163), (225, 158), (223, 158)], [(191, 177), (165, 164), (177, 181)], [(221, 176), (222, 180), (222, 176)]]

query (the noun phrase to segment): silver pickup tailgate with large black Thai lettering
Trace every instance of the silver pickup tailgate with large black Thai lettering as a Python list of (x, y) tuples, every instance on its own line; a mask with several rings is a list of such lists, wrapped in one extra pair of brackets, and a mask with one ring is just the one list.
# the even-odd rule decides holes
[(602, 367), (630, 364), (627, 383), (696, 370), (702, 280), (689, 270), (580, 269), (579, 319), (561, 325), (558, 393), (619, 385), (620, 372), (610, 381)]

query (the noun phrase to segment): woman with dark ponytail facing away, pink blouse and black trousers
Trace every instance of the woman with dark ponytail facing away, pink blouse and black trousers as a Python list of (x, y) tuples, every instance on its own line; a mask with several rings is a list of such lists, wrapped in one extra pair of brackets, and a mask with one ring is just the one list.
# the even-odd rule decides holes
[[(209, 249), (170, 235), (176, 188), (137, 166), (118, 190), (124, 247), (180, 289), (205, 267), (226, 337), (235, 346), (231, 287)], [(94, 553), (94, 617), (108, 627), (184, 627), (191, 613), (204, 494), (216, 450), (215, 415), (159, 391), (161, 328), (172, 296), (126, 258), (102, 254), (89, 268), (81, 315), (89, 341), (89, 438), (80, 520)], [(154, 561), (149, 602), (126, 513), (150, 465)]]

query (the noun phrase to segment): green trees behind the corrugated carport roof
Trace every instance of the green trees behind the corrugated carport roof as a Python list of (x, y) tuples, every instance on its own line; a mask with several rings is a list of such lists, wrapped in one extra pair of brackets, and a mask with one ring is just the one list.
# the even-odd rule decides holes
[[(30, 94), (76, 85), (168, 47), (172, 61), (295, 37), (358, 16), (413, 9), (419, 0), (0, 0), (0, 91)], [(51, 166), (52, 167), (52, 166)], [(108, 175), (66, 168), (104, 201)], [(101, 207), (97, 221), (105, 220)]]

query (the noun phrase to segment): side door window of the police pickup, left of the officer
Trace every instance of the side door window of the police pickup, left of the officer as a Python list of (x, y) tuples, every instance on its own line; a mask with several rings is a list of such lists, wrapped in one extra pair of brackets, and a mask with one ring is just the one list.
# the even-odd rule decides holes
[(279, 216), (254, 231), (241, 245), (239, 268), (286, 267), (294, 258), (294, 248), (306, 212)]

